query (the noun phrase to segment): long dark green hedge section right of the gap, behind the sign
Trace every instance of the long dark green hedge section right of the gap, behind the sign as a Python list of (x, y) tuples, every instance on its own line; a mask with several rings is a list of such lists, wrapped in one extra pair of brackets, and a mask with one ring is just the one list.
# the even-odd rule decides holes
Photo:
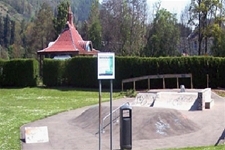
[[(225, 59), (219, 57), (116, 57), (114, 88), (121, 89), (123, 79), (158, 74), (192, 73), (194, 88), (207, 86), (225, 87)], [(45, 60), (43, 83), (47, 86), (75, 86), (97, 88), (97, 58), (75, 57), (66, 61)], [(50, 71), (51, 70), (51, 71)], [(190, 87), (190, 79), (180, 79), (180, 84)], [(109, 87), (108, 80), (102, 80), (104, 87)], [(132, 83), (125, 88), (132, 88)], [(136, 83), (137, 88), (147, 88), (147, 81)], [(152, 88), (162, 88), (162, 79), (151, 81)], [(176, 79), (166, 79), (166, 87), (176, 88)]]

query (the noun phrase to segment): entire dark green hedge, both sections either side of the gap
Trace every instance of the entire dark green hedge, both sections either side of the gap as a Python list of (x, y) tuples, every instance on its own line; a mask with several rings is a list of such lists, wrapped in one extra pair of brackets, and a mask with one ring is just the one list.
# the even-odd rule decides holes
[[(221, 57), (116, 57), (114, 88), (121, 89), (121, 81), (145, 75), (192, 73), (194, 88), (225, 88), (225, 59)], [(36, 86), (38, 62), (33, 59), (0, 60), (0, 86)], [(73, 86), (98, 88), (97, 58), (74, 57), (69, 60), (43, 61), (43, 83), (46, 86)], [(180, 79), (180, 84), (190, 88), (190, 79)], [(109, 81), (102, 86), (109, 88)], [(132, 83), (125, 84), (130, 89)], [(176, 79), (166, 79), (167, 88), (176, 88)], [(146, 89), (147, 81), (136, 82), (136, 88)], [(162, 79), (151, 80), (151, 88), (162, 88)]]

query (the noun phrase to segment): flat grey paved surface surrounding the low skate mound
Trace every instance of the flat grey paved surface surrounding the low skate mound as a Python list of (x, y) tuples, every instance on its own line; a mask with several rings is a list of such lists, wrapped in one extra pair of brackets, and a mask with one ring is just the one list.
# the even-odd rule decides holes
[[(215, 145), (224, 142), (225, 100), (213, 92), (212, 98), (215, 100), (215, 105), (212, 109), (204, 111), (179, 110), (184, 117), (196, 123), (199, 128), (201, 128), (200, 130), (158, 139), (138, 140), (136, 139), (137, 137), (134, 137), (136, 140), (132, 141), (133, 150)], [(119, 106), (125, 102), (133, 101), (134, 99), (124, 98), (113, 101), (113, 105)], [(109, 106), (109, 103), (104, 103), (103, 106)], [(38, 144), (21, 142), (22, 150), (98, 150), (98, 135), (87, 132), (85, 129), (74, 124), (75, 118), (91, 107), (96, 106), (63, 112), (22, 126), (21, 138), (24, 138), (24, 127), (47, 126), (50, 140), (48, 143)], [(145, 114), (142, 114), (140, 117), (144, 115)], [(133, 123), (136, 123), (135, 120), (133, 120)], [(133, 131), (135, 131), (135, 129), (133, 129)], [(113, 133), (113, 149), (118, 150), (120, 148), (118, 130)], [(149, 135), (151, 135), (150, 131)], [(109, 134), (104, 134), (102, 135), (102, 150), (108, 150), (109, 147)]]

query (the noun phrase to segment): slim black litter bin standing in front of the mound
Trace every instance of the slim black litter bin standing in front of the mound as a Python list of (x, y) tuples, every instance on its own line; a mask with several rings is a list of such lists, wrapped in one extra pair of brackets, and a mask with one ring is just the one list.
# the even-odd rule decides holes
[(132, 107), (128, 104), (120, 107), (120, 148), (132, 149)]

